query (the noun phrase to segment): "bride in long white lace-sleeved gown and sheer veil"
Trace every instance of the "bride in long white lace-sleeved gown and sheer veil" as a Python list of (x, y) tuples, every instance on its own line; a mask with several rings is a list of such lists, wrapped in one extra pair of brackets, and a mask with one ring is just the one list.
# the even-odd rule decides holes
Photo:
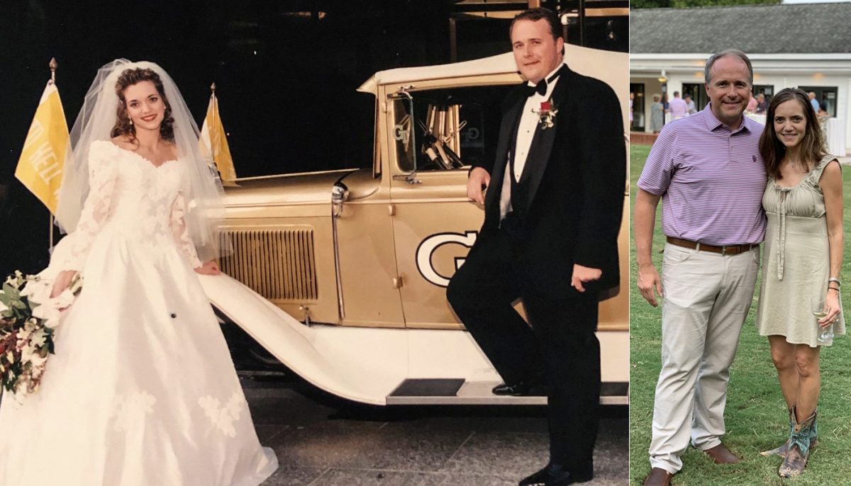
[[(0, 484), (256, 486), (277, 469), (198, 274), (218, 274), (220, 185), (158, 65), (100, 69), (71, 130), (42, 276), (83, 291), (39, 392), (0, 404)], [(203, 263), (206, 261), (206, 263)]]

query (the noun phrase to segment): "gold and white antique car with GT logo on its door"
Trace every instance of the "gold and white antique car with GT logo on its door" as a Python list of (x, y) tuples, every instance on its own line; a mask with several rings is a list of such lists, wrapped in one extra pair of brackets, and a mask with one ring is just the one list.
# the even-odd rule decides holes
[[(626, 121), (628, 54), (565, 48), (574, 71), (614, 88)], [(375, 96), (371, 170), (237, 179), (227, 275), (202, 276), (220, 316), (343, 398), (544, 404), (490, 393), (500, 377), (446, 300), (483, 221), (466, 197), (470, 162), (493, 156), (500, 103), (521, 81), (511, 53), (380, 71), (359, 88)], [(628, 207), (626, 194), (621, 291), (600, 304), (603, 404), (628, 403)]]

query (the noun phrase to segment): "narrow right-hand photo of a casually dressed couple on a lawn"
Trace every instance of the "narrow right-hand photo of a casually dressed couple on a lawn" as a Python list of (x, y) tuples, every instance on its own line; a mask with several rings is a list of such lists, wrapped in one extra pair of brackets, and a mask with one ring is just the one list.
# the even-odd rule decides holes
[(849, 483), (848, 19), (631, 3), (631, 485)]

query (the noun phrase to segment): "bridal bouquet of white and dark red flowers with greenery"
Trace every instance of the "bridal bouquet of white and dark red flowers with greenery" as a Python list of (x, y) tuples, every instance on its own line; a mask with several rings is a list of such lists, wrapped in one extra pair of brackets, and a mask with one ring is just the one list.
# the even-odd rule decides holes
[(0, 290), (0, 385), (22, 398), (35, 393), (48, 356), (54, 353), (54, 329), (60, 312), (83, 286), (79, 274), (66, 291), (50, 297), (53, 279), (15, 271)]

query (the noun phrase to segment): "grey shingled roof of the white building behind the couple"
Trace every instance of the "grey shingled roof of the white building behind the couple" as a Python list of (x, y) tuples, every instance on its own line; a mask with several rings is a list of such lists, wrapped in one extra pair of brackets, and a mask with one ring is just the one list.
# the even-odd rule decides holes
[(630, 52), (851, 53), (851, 3), (633, 8)]

